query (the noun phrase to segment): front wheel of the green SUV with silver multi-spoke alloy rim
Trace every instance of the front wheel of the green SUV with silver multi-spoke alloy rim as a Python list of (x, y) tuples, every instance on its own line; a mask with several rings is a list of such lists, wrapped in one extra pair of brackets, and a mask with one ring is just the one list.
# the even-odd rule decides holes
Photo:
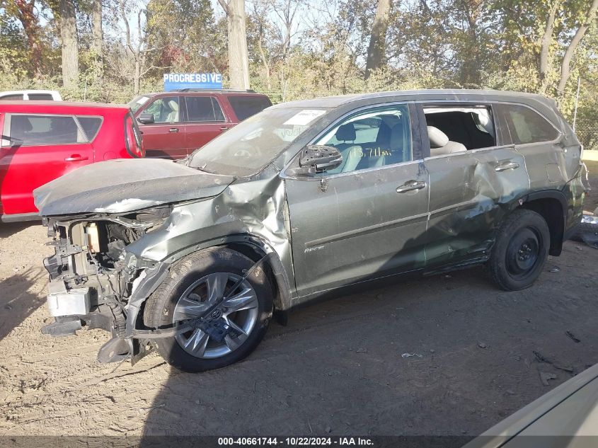
[(226, 248), (192, 253), (173, 266), (147, 300), (144, 322), (150, 328), (190, 326), (154, 348), (185, 372), (233, 364), (260, 343), (272, 318), (272, 287), (253, 261)]

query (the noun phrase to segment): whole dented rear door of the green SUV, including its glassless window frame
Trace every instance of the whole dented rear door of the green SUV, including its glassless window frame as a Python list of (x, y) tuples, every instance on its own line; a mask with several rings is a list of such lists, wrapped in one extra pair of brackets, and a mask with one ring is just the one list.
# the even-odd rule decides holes
[[(425, 167), (430, 173), (427, 269), (485, 258), (507, 208), (529, 188), (523, 157), (512, 144), (505, 144), (489, 103), (418, 108), (421, 115), (430, 111), (423, 120), (447, 134), (449, 144), (461, 144), (458, 151), (430, 155), (427, 133), (424, 136)], [(464, 114), (471, 122), (454, 129), (454, 122), (464, 122)], [(486, 134), (474, 134), (473, 128)]]

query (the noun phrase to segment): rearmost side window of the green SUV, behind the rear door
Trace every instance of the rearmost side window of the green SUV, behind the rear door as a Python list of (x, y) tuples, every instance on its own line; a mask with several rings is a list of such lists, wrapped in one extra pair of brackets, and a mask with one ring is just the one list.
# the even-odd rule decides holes
[(501, 105), (514, 144), (550, 142), (558, 131), (546, 118), (522, 105)]

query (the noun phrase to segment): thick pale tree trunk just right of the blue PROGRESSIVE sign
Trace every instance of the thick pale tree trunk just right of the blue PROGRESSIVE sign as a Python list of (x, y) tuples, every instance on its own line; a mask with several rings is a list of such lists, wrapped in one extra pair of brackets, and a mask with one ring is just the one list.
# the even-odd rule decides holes
[(249, 57), (245, 29), (245, 1), (229, 0), (226, 11), (229, 25), (229, 74), (231, 88), (249, 88)]

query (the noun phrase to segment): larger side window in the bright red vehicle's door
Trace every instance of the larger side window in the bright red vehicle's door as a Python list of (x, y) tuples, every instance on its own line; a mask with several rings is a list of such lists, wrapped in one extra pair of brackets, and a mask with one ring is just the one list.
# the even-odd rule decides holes
[(11, 115), (10, 137), (13, 144), (22, 146), (87, 141), (74, 117), (64, 115)]

